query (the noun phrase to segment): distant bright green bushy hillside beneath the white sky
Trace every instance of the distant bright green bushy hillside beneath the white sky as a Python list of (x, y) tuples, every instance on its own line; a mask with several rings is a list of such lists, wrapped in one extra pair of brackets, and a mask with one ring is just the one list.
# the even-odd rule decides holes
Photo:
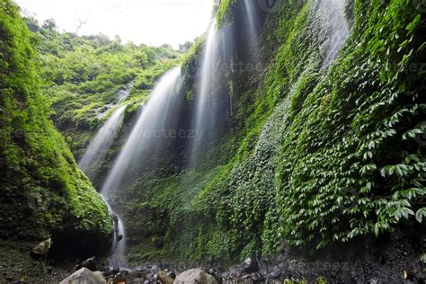
[(60, 33), (53, 20), (41, 26), (32, 18), (26, 22), (39, 50), (42, 89), (52, 103), (52, 119), (77, 156), (118, 104), (120, 90), (130, 88), (129, 97), (121, 102), (129, 104), (130, 116), (146, 100), (155, 80), (181, 57), (167, 45), (151, 48), (122, 44), (119, 37), (110, 40), (102, 34)]

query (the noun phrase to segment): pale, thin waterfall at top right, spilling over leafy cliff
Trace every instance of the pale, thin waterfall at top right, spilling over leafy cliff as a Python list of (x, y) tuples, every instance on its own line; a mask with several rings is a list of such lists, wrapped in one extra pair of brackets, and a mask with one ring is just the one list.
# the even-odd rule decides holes
[(329, 67), (349, 37), (349, 25), (345, 17), (345, 0), (321, 0), (318, 13), (327, 37), (321, 49), (324, 53), (323, 67)]

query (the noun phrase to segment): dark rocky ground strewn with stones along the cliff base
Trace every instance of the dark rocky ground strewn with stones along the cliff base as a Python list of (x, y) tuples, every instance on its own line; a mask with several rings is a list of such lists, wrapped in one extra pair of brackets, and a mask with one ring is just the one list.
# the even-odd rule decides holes
[[(425, 266), (420, 261), (422, 252), (426, 251), (424, 228), (401, 230), (380, 239), (366, 238), (330, 248), (315, 257), (283, 246), (277, 256), (253, 257), (231, 267), (215, 262), (194, 265), (157, 262), (123, 269), (104, 265), (105, 259), (35, 260), (29, 253), (33, 244), (6, 241), (0, 244), (2, 284), (58, 283), (81, 266), (102, 271), (106, 279), (144, 284), (160, 282), (159, 271), (174, 279), (176, 274), (192, 267), (202, 267), (219, 283), (426, 283)], [(76, 265), (78, 262), (80, 265)]]

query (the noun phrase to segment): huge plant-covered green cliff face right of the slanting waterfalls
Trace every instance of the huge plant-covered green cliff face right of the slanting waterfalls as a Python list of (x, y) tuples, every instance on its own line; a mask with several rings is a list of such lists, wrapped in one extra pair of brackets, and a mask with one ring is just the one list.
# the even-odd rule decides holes
[[(200, 167), (152, 170), (122, 191), (130, 258), (232, 259), (283, 243), (315, 251), (421, 226), (422, 7), (347, 1), (350, 36), (327, 67), (318, 3), (259, 7), (262, 70), (221, 75), (211, 95), (223, 115)], [(222, 1), (217, 22), (234, 47), (221, 63), (251, 63), (242, 2)], [(182, 67), (188, 113), (202, 46)]]

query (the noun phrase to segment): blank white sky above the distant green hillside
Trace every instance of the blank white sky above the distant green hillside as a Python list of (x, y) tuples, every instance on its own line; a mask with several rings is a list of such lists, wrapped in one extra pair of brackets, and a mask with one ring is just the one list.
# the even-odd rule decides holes
[(99, 32), (123, 43), (149, 46), (164, 43), (178, 48), (207, 30), (213, 0), (15, 0), (39, 22), (54, 19), (59, 31), (78, 35)]

